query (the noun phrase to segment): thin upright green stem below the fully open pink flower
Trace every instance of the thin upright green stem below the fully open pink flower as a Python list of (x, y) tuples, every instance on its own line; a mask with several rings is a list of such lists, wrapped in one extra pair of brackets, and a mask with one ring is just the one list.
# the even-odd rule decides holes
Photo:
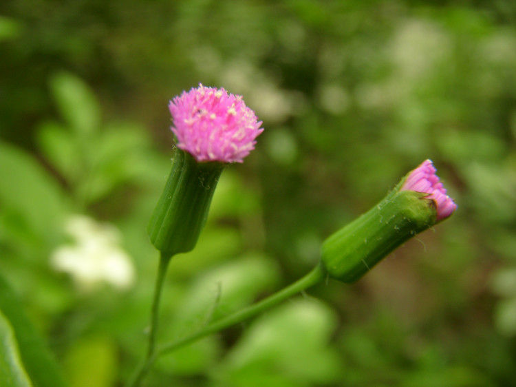
[(155, 287), (154, 287), (154, 298), (152, 302), (151, 309), (151, 328), (149, 331), (149, 343), (147, 344), (147, 355), (145, 356), (144, 361), (136, 370), (135, 375), (129, 382), (128, 386), (136, 387), (140, 386), (142, 379), (149, 372), (154, 360), (155, 360), (155, 342), (156, 342), (156, 334), (158, 333), (158, 321), (159, 321), (159, 311), (160, 311), (160, 300), (161, 293), (163, 290), (164, 279), (166, 275), (166, 269), (169, 266), (169, 262), (171, 260), (170, 255), (164, 255), (161, 253), (160, 255), (160, 266), (158, 266), (158, 275), (156, 277)]

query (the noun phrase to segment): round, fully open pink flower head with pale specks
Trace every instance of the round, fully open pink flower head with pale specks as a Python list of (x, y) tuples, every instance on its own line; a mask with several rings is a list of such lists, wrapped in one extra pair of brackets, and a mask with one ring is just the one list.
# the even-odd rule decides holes
[(178, 147), (197, 161), (241, 163), (264, 131), (241, 96), (215, 87), (192, 88), (170, 101)]

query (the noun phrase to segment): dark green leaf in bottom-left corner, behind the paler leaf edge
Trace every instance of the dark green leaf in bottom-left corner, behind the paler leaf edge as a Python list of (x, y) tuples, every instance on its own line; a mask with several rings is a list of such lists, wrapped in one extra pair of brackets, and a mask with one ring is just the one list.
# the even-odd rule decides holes
[(9, 320), (21, 360), (35, 387), (61, 387), (65, 381), (56, 360), (21, 308), (21, 302), (0, 277), (0, 311)]

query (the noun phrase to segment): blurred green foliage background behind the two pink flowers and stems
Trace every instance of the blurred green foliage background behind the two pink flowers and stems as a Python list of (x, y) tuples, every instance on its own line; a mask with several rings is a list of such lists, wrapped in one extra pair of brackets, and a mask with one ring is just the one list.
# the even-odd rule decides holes
[(3, 0), (0, 15), (0, 273), (72, 386), (118, 386), (142, 356), (167, 103), (200, 82), (266, 130), (171, 264), (162, 340), (299, 278), (425, 158), (459, 207), (356, 284), (164, 357), (148, 386), (514, 385), (515, 1)]

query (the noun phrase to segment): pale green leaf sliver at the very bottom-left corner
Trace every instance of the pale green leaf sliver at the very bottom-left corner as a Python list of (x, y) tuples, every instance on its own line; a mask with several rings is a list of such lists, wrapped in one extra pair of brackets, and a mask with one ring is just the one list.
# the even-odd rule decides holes
[(0, 312), (0, 386), (25, 387), (32, 386), (29, 377), (21, 364), (14, 332)]

